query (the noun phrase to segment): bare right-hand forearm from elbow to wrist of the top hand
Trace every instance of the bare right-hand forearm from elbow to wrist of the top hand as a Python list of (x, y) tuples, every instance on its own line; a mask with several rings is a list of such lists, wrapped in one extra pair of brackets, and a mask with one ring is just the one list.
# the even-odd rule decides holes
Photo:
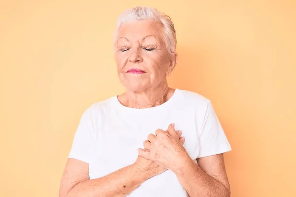
[(190, 197), (230, 197), (230, 192), (221, 182), (206, 174), (192, 160), (176, 175)]

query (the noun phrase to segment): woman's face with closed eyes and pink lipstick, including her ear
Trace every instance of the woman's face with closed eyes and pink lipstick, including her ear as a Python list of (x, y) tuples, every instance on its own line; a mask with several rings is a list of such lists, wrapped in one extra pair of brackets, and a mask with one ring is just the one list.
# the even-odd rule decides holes
[(177, 55), (169, 56), (161, 25), (146, 20), (126, 23), (119, 29), (115, 60), (123, 86), (143, 91), (166, 82)]

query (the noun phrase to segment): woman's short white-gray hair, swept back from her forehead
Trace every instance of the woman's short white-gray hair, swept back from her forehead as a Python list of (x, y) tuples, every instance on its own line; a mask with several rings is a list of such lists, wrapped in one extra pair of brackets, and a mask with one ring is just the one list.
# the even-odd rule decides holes
[(174, 23), (169, 16), (159, 12), (157, 9), (152, 7), (136, 6), (123, 11), (123, 13), (119, 16), (117, 20), (114, 41), (119, 29), (124, 23), (143, 20), (152, 20), (161, 24), (161, 26), (163, 27), (163, 36), (167, 51), (169, 52), (169, 54), (174, 54), (176, 52), (177, 44)]

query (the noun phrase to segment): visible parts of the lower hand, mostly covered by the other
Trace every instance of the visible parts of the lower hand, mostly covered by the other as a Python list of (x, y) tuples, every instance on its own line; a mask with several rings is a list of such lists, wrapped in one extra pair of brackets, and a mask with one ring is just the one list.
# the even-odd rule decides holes
[[(182, 131), (175, 131), (181, 144), (184, 144), (185, 138), (181, 137)], [(145, 141), (144, 141), (145, 143)], [(149, 152), (148, 149), (144, 149), (144, 151)], [(159, 166), (155, 162), (148, 160), (144, 157), (138, 156), (136, 162), (134, 165), (137, 167), (138, 170), (141, 170), (142, 172), (145, 172), (148, 178), (151, 178), (152, 176), (156, 176), (158, 174), (161, 174), (162, 172), (166, 171), (167, 168)], [(147, 178), (147, 179), (148, 179)]]

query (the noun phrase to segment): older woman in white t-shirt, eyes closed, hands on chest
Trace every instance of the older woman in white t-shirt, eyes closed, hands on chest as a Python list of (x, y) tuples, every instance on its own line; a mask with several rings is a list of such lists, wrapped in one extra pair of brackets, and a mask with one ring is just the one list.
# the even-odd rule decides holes
[(170, 17), (134, 7), (119, 17), (114, 50), (126, 92), (83, 113), (60, 197), (229, 197), (230, 145), (211, 101), (168, 87), (177, 64)]

